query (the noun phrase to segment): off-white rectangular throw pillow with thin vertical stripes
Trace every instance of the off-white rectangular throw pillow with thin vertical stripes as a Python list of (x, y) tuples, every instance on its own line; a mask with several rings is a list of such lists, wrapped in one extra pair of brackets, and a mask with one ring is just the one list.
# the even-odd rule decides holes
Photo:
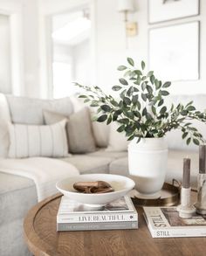
[(68, 156), (65, 123), (66, 120), (39, 126), (9, 123), (9, 157)]

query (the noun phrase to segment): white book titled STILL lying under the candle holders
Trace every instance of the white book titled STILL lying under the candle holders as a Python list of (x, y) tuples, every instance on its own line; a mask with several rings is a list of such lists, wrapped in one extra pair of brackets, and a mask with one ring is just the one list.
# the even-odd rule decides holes
[(180, 218), (176, 207), (143, 207), (153, 238), (205, 237), (206, 216)]

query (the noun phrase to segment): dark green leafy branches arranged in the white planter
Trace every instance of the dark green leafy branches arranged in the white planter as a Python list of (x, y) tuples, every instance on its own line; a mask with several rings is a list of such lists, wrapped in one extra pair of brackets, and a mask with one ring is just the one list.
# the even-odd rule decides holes
[(196, 110), (193, 101), (185, 106), (181, 103), (168, 107), (165, 97), (168, 96), (170, 81), (164, 83), (154, 76), (153, 71), (145, 72), (145, 63), (141, 68), (134, 66), (134, 60), (127, 58), (128, 66), (119, 66), (122, 73), (119, 83), (112, 87), (118, 95), (104, 93), (99, 86), (82, 86), (76, 83), (86, 94), (79, 95), (91, 107), (98, 107), (96, 121), (119, 124), (118, 132), (125, 132), (127, 140), (142, 137), (162, 137), (173, 129), (182, 130), (182, 139), (187, 144), (196, 145), (204, 142), (191, 120), (206, 122), (206, 114)]

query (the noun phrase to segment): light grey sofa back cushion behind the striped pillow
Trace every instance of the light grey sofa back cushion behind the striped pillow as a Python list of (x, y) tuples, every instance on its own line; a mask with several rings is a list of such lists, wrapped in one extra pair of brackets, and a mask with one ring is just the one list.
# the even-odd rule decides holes
[(40, 100), (7, 95), (11, 121), (14, 123), (44, 124), (43, 109), (69, 115), (73, 112), (70, 98)]

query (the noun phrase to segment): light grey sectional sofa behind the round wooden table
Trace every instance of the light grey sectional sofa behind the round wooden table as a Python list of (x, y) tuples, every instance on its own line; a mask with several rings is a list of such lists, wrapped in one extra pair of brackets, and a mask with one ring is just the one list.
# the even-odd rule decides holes
[[(206, 95), (193, 97), (195, 105), (200, 110), (206, 108)], [(191, 97), (173, 97), (174, 101), (189, 101)], [(79, 103), (74, 98), (61, 100), (37, 100), (24, 97), (15, 97), (0, 93), (0, 169), (1, 158), (8, 156), (10, 138), (8, 136), (8, 121), (13, 123), (45, 124), (43, 110), (52, 110), (59, 114), (69, 115), (79, 109)], [(206, 137), (205, 124), (197, 124)], [(118, 134), (104, 124), (93, 123), (93, 133), (98, 146), (108, 146), (113, 139), (111, 136)], [(115, 142), (115, 140), (114, 140)], [(173, 178), (182, 180), (182, 159), (189, 156), (192, 160), (192, 183), (196, 185), (198, 172), (198, 147), (186, 147), (178, 132), (168, 135), (168, 174), (166, 181)], [(122, 145), (120, 145), (122, 146)], [(115, 147), (110, 150), (96, 149), (93, 153), (78, 154), (64, 157), (61, 160), (72, 163), (80, 174), (83, 173), (113, 173), (127, 176), (127, 150)], [(115, 150), (114, 150), (115, 149)], [(127, 149), (127, 148), (125, 148)], [(41, 159), (39, 158), (39, 161)], [(26, 197), (25, 197), (26, 195)], [(23, 219), (26, 212), (38, 202), (35, 183), (26, 177), (10, 175), (0, 171), (0, 255), (24, 256), (31, 255), (24, 245)]]

